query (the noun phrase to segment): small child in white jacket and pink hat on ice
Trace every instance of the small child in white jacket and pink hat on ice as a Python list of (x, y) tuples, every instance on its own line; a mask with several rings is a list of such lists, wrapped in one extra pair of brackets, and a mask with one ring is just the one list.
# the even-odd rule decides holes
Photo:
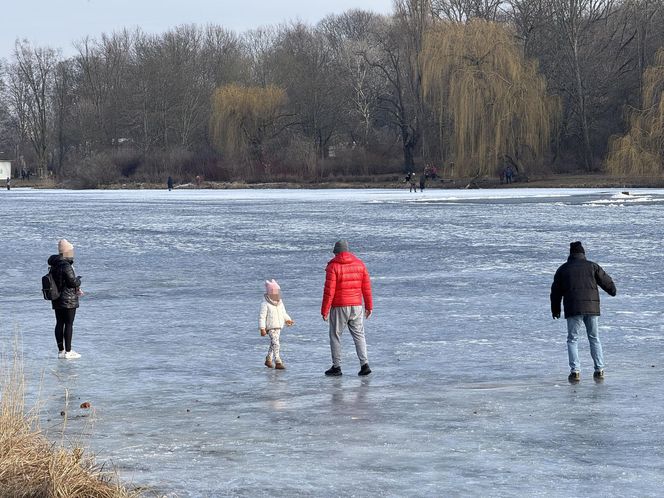
[(286, 367), (279, 355), (279, 336), (284, 325), (289, 327), (295, 322), (288, 316), (286, 307), (281, 299), (281, 287), (276, 280), (265, 281), (265, 295), (261, 303), (261, 311), (258, 318), (258, 328), (261, 336), (270, 336), (270, 349), (267, 351), (265, 366), (272, 368), (272, 355), (274, 355), (274, 368), (283, 370)]

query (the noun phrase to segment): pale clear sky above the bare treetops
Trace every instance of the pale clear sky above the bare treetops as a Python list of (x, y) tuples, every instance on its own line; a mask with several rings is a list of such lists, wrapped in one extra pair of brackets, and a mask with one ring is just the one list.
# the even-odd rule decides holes
[(392, 0), (0, 0), (0, 58), (17, 38), (72, 55), (72, 43), (122, 28), (161, 33), (179, 24), (220, 24), (238, 32), (361, 8), (387, 14)]

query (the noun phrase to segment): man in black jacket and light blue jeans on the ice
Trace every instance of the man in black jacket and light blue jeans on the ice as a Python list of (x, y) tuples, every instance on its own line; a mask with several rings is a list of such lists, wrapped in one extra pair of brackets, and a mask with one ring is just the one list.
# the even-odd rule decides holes
[(611, 296), (616, 295), (616, 286), (611, 277), (597, 263), (586, 259), (586, 251), (581, 242), (570, 243), (570, 255), (567, 263), (556, 271), (551, 285), (551, 315), (560, 318), (560, 301), (565, 308), (567, 320), (567, 355), (569, 357), (570, 382), (581, 380), (579, 350), (577, 346), (579, 332), (585, 325), (590, 355), (595, 363), (595, 380), (604, 378), (604, 356), (599, 340), (599, 291), (603, 289)]

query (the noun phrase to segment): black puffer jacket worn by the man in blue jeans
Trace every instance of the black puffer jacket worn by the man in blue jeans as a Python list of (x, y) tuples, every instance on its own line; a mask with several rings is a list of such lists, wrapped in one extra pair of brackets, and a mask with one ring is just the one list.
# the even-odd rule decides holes
[(570, 254), (553, 277), (551, 285), (551, 313), (560, 316), (560, 300), (565, 307), (565, 318), (576, 315), (599, 315), (601, 287), (611, 296), (616, 286), (611, 277), (597, 263), (588, 261), (585, 254)]

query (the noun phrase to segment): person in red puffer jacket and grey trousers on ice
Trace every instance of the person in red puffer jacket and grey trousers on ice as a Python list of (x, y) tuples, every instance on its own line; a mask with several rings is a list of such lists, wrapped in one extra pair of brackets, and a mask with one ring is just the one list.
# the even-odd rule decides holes
[(335, 257), (325, 268), (325, 289), (320, 309), (323, 320), (330, 323), (332, 368), (326, 370), (325, 375), (341, 375), (341, 333), (346, 326), (360, 360), (358, 375), (369, 375), (371, 369), (364, 338), (364, 318), (369, 318), (373, 310), (369, 272), (362, 260), (349, 251), (345, 240), (337, 241), (332, 252)]

